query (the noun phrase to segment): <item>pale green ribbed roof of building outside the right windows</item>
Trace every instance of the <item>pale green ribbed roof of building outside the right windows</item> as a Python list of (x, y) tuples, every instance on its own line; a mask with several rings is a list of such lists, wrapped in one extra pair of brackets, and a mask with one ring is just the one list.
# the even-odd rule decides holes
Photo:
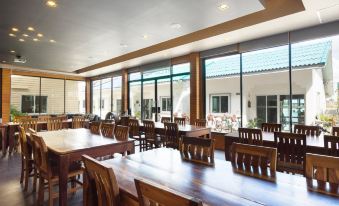
[[(306, 42), (292, 45), (292, 67), (325, 65), (331, 41)], [(243, 53), (243, 73), (254, 73), (288, 68), (288, 46)], [(240, 73), (240, 55), (206, 60), (206, 77), (237, 75)]]

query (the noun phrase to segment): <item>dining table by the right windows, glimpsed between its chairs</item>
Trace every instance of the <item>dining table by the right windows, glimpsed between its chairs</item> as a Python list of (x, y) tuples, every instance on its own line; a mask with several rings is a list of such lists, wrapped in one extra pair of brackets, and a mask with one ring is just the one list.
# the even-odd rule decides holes
[[(239, 142), (239, 133), (232, 132), (224, 135), (225, 138), (225, 158), (231, 161), (230, 148), (233, 142)], [(274, 133), (262, 132), (263, 145), (266, 147), (275, 147)], [(315, 154), (327, 154), (327, 149), (324, 146), (324, 133), (319, 136), (306, 136), (306, 152)]]

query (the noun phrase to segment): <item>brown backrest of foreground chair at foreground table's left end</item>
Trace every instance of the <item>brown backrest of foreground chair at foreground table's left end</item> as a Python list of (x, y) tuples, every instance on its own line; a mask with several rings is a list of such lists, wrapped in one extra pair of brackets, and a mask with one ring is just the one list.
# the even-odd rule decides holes
[(85, 165), (85, 172), (90, 185), (94, 187), (99, 206), (118, 206), (120, 205), (119, 186), (113, 169), (105, 166), (99, 161), (87, 156), (82, 156)]

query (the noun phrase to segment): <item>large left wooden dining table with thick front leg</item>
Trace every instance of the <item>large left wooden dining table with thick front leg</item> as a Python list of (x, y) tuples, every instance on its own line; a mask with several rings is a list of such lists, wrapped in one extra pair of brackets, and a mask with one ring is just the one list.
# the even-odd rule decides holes
[(103, 157), (114, 153), (134, 153), (134, 140), (118, 141), (92, 134), (89, 129), (64, 129), (38, 132), (48, 148), (51, 158), (58, 162), (59, 205), (67, 205), (67, 175), (71, 162), (81, 160), (86, 154)]

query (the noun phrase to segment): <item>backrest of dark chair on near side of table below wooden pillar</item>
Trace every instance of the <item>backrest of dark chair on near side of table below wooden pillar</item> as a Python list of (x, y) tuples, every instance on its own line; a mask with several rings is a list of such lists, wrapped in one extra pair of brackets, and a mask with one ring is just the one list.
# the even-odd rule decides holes
[(177, 123), (165, 122), (165, 146), (178, 149), (179, 147), (179, 129)]

